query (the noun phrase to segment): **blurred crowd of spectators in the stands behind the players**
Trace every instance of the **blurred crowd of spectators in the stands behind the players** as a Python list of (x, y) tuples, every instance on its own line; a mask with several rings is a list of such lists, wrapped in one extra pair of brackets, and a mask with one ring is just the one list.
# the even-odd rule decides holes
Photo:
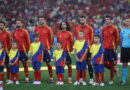
[(54, 31), (61, 21), (68, 21), (74, 27), (79, 15), (86, 15), (89, 25), (100, 27), (105, 14), (112, 15), (114, 24), (122, 28), (123, 19), (130, 17), (130, 3), (123, 0), (0, 0), (0, 19), (6, 21), (10, 30), (15, 28), (16, 19), (23, 19), (27, 28), (33, 28), (38, 16), (45, 16)]

